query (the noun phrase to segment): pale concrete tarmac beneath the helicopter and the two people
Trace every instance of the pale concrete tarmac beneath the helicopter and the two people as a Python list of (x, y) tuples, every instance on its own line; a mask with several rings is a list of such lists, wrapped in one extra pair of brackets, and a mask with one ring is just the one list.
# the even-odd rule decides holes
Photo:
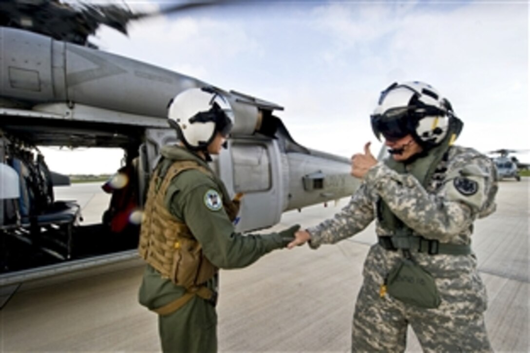
[[(488, 289), (485, 319), (495, 351), (530, 351), (529, 187), (530, 178), (500, 182), (497, 212), (475, 223), (473, 250)], [(85, 207), (104, 203), (102, 197), (87, 193)], [(272, 230), (319, 223), (346, 202), (290, 211)], [(222, 270), (219, 351), (350, 351), (361, 269), (374, 242), (372, 225), (316, 251), (275, 251), (248, 268)], [(0, 312), (0, 351), (160, 351), (157, 317), (137, 303), (142, 272), (135, 264), (21, 290)], [(411, 330), (407, 351), (421, 351)]]

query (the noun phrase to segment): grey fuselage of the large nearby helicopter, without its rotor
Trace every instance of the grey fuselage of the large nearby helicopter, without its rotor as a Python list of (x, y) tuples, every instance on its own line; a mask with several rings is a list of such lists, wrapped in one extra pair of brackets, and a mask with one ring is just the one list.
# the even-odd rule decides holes
[[(0, 163), (19, 173), (20, 190), (40, 190), (31, 184), (40, 179), (30, 178), (36, 161), (29, 157), (38, 154), (38, 146), (118, 147), (124, 151), (126, 165), (117, 165), (116, 170), (134, 165), (134, 201), (141, 207), (160, 148), (178, 142), (167, 125), (167, 104), (185, 89), (208, 84), (20, 29), (0, 27), (0, 45)], [(227, 150), (211, 166), (231, 195), (244, 193), (237, 231), (272, 226), (284, 211), (325, 204), (351, 195), (358, 187), (359, 182), (349, 174), (348, 158), (295, 142), (274, 114), (282, 107), (235, 91), (220, 91), (231, 102), (235, 123)], [(30, 174), (22, 174), (26, 170)], [(69, 218), (57, 216), (55, 221), (53, 203), (44, 202), (39, 208), (33, 202), (25, 208), (27, 213), (20, 215), (21, 206), (28, 206), (21, 203), (32, 201), (22, 194), (17, 199), (0, 200), (0, 235), (15, 239), (3, 243), (2, 258), (7, 260), (0, 269), (0, 286), (23, 278), (13, 277), (20, 271), (41, 266), (38, 261), (19, 261), (17, 252), (27, 249), (11, 245), (18, 244), (16, 239), (31, 244), (30, 257), (43, 256), (45, 238), (55, 238), (55, 243), (60, 240), (64, 246), (47, 253), (71, 268), (81, 258), (96, 260), (136, 246), (137, 229), (125, 235), (130, 237), (123, 242), (125, 247), (87, 254), (82, 245), (76, 246), (80, 234), (87, 233), (82, 222), (78, 224), (78, 205), (61, 204), (73, 207), (68, 209), (72, 214)], [(10, 207), (19, 214), (5, 216)], [(104, 223), (98, 225), (98, 232), (116, 235)]]

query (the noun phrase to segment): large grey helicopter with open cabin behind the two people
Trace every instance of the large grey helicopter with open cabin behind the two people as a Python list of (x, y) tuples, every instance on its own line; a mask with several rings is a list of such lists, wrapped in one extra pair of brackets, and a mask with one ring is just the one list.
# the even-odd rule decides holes
[[(227, 2), (160, 13), (218, 3)], [(53, 0), (0, 4), (0, 287), (137, 257), (146, 186), (161, 147), (178, 143), (166, 107), (192, 87), (217, 90), (234, 111), (231, 139), (210, 165), (232, 196), (244, 195), (238, 232), (273, 226), (285, 211), (327, 205), (358, 188), (349, 158), (291, 137), (278, 117), (281, 105), (90, 43), (100, 24), (126, 34), (129, 21), (151, 15)], [(101, 222), (84, 225), (79, 202), (56, 199), (54, 187), (69, 178), (49, 170), (39, 146), (122, 149), (123, 165), (103, 185), (112, 196)]]

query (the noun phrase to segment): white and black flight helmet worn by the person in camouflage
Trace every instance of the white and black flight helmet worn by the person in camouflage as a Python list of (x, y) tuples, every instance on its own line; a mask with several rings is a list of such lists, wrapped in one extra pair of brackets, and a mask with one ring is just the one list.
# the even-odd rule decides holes
[(453, 121), (457, 122), (456, 135), (462, 129), (451, 103), (434, 87), (418, 81), (390, 85), (381, 93), (370, 120), (378, 139), (381, 135), (390, 140), (411, 134), (427, 149), (445, 139)]

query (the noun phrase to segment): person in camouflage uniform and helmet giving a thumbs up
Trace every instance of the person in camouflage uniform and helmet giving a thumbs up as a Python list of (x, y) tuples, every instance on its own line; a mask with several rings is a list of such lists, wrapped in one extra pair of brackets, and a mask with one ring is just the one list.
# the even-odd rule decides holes
[[(483, 317), (487, 296), (470, 244), (474, 220), (495, 209), (493, 164), (453, 145), (463, 124), (430, 85), (391, 85), (371, 120), (390, 156), (377, 163), (366, 144), (364, 154), (352, 157), (351, 173), (363, 183), (349, 204), (298, 231), (289, 248), (336, 243), (376, 219), (378, 243), (365, 261), (352, 351), (404, 351), (408, 324), (425, 351), (491, 351)], [(413, 268), (408, 273), (424, 277), (404, 276), (398, 271), (403, 263)], [(429, 278), (431, 297), (420, 290)]]

